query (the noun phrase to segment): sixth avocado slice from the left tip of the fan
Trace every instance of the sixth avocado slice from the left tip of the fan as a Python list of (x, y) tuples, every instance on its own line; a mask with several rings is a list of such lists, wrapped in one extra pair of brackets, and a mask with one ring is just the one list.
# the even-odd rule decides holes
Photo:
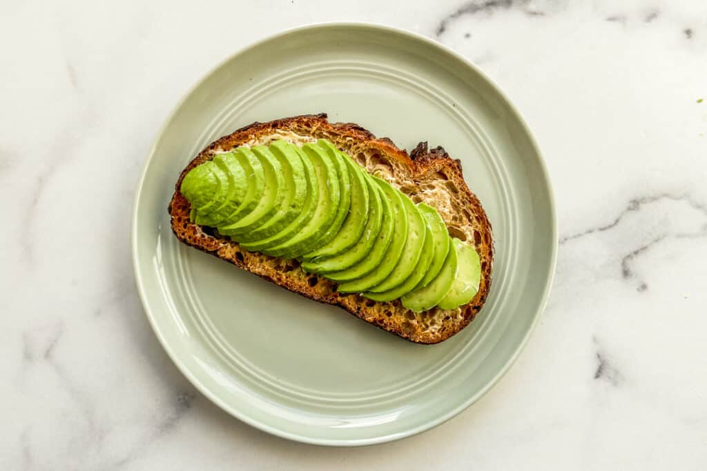
[(297, 145), (280, 140), (271, 143), (268, 148), (280, 162), (285, 180), (285, 198), (277, 213), (264, 225), (238, 234), (238, 242), (255, 242), (277, 234), (300, 215), (305, 204), (308, 179)]

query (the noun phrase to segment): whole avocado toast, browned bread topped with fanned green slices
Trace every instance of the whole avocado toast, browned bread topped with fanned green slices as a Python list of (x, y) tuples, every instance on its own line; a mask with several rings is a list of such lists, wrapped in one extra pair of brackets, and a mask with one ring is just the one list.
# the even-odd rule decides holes
[[(247, 188), (229, 186), (233, 174), (223, 173), (238, 162)], [(189, 183), (197, 178), (209, 184)], [(250, 217), (218, 225), (241, 210), (233, 198)], [(489, 292), (491, 225), (460, 162), (426, 143), (408, 155), (325, 114), (254, 123), (218, 139), (180, 174), (169, 213), (185, 244), (413, 342), (454, 335)], [(404, 234), (390, 229), (391, 219)], [(469, 273), (473, 287), (455, 280)]]

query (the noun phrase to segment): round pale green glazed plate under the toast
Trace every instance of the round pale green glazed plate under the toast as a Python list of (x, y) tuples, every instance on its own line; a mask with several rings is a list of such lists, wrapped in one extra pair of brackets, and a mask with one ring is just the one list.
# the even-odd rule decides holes
[[(182, 168), (253, 121), (327, 112), (402, 148), (444, 145), (493, 225), (484, 309), (461, 333), (407, 342), (177, 242), (167, 204)], [(551, 190), (530, 131), (479, 69), (424, 37), (362, 24), (284, 32), (191, 90), (137, 186), (132, 248), (145, 311), (194, 386), (259, 429), (323, 445), (400, 439), (444, 422), (508, 370), (555, 266)]]

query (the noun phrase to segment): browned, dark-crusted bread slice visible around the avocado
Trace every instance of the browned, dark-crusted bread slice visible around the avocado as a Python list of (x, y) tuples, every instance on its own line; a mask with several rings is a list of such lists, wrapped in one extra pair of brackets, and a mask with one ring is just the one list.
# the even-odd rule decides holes
[[(189, 220), (191, 208), (189, 201), (180, 193), (180, 186), (193, 167), (211, 160), (216, 153), (239, 145), (267, 145), (278, 139), (302, 145), (319, 138), (334, 143), (358, 165), (389, 181), (415, 203), (423, 202), (436, 208), (450, 235), (474, 246), (481, 261), (481, 282), (479, 291), (469, 304), (451, 310), (436, 307), (414, 312), (405, 309), (399, 299), (374, 302), (358, 294), (341, 294), (337, 292), (337, 283), (305, 273), (296, 260), (246, 251), (227, 237), (214, 234), (210, 227)], [(408, 155), (390, 139), (376, 138), (357, 124), (329, 123), (326, 114), (308, 114), (268, 123), (255, 122), (211, 143), (182, 170), (170, 201), (169, 213), (173, 232), (185, 244), (230, 261), (290, 291), (340, 306), (354, 316), (412, 342), (431, 344), (450, 338), (472, 321), (489, 294), (493, 262), (491, 224), (479, 199), (462, 177), (460, 161), (452, 160), (441, 147), (428, 149), (426, 142), (419, 143)]]

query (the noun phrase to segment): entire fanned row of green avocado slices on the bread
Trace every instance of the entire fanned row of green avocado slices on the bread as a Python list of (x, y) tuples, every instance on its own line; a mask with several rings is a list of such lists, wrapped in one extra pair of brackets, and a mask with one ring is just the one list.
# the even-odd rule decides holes
[(368, 174), (332, 143), (235, 148), (191, 169), (190, 216), (242, 249), (296, 258), (341, 293), (455, 309), (479, 290), (479, 255), (439, 213)]

